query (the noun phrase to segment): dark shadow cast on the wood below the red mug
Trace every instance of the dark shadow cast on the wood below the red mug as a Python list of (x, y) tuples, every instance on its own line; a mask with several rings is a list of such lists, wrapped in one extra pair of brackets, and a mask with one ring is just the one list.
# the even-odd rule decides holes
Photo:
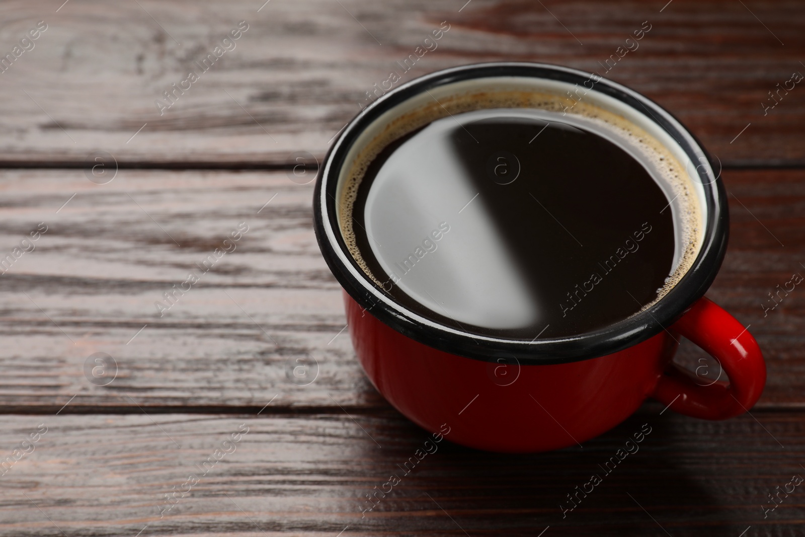
[[(582, 448), (555, 452), (512, 455), (443, 441), (438, 454), (428, 455), (407, 474), (402, 486), (384, 498), (385, 505), (378, 505), (375, 514), (382, 511), (384, 526), (394, 521), (395, 529), (406, 535), (407, 531), (417, 535), (425, 531), (427, 535), (535, 536), (550, 527), (546, 537), (734, 537), (740, 524), (730, 520), (729, 507), (720, 506), (704, 477), (696, 472), (696, 456), (715, 454), (691, 452), (691, 439), (680, 441), (676, 426), (680, 419), (690, 418), (670, 411), (658, 415), (660, 410), (656, 403), (647, 403)], [(407, 422), (403, 416), (399, 419)], [(396, 453), (386, 452), (390, 460), (397, 454), (404, 460), (426, 438), (413, 423), (398, 426)], [(650, 432), (635, 448), (634, 434), (647, 428)], [(415, 439), (411, 446), (400, 445), (408, 444), (408, 439)], [(630, 439), (632, 443), (625, 445)], [(626, 448), (632, 452), (627, 453)], [(622, 460), (619, 449), (623, 450)], [(604, 468), (611, 457), (616, 457), (617, 464), (610, 462)], [(600, 481), (590, 490), (593, 474)], [(433, 511), (432, 516), (423, 516), (423, 510)], [(411, 511), (419, 516), (411, 516)]]

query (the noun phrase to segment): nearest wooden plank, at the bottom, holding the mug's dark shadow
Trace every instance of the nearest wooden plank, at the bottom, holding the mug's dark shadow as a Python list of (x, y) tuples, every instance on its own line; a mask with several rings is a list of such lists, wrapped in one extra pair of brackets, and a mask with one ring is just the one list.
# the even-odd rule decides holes
[[(428, 436), (393, 412), (2, 416), (3, 457), (47, 432), (2, 476), (0, 535), (796, 534), (801, 486), (766, 518), (762, 506), (805, 473), (803, 415), (704, 422), (659, 411), (643, 407), (583, 448), (537, 455), (442, 440), (407, 475), (401, 465)], [(625, 444), (641, 430), (641, 443)], [(605, 473), (625, 448), (633, 453)], [(205, 465), (217, 449), (228, 452)], [(362, 517), (365, 495), (392, 474), (398, 485)], [(559, 505), (592, 474), (601, 484), (563, 518)], [(168, 502), (174, 491), (184, 497)]]

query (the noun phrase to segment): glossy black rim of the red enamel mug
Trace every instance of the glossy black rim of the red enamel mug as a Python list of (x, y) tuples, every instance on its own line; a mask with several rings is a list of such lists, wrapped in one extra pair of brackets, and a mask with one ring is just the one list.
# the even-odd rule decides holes
[[(597, 331), (572, 337), (537, 337), (534, 341), (510, 340), (461, 333), (452, 327), (424, 324), (415, 313), (394, 302), (380, 290), (354, 261), (347, 249), (336, 217), (336, 186), (349, 148), (358, 135), (386, 110), (426, 90), (440, 85), (494, 76), (524, 76), (584, 85), (592, 73), (551, 64), (494, 62), (471, 64), (433, 72), (390, 90), (361, 111), (345, 126), (328, 150), (313, 194), (316, 240), (330, 271), (367, 312), (399, 333), (424, 345), (447, 353), (482, 361), (544, 365), (587, 360), (616, 353), (654, 335), (669, 332), (671, 324), (683, 316), (708, 290), (724, 259), (729, 235), (727, 197), (720, 173), (712, 178), (712, 159), (690, 131), (667, 110), (624, 85), (599, 78), (592, 91), (604, 93), (637, 110), (648, 120), (661, 126), (691, 159), (700, 162), (704, 155), (708, 165), (696, 167), (704, 187), (707, 208), (704, 241), (691, 268), (657, 304), (627, 319)], [(584, 86), (586, 87), (586, 86)], [(646, 114), (647, 113), (647, 114)], [(349, 264), (349, 266), (348, 266)], [(670, 332), (669, 332), (670, 333)]]

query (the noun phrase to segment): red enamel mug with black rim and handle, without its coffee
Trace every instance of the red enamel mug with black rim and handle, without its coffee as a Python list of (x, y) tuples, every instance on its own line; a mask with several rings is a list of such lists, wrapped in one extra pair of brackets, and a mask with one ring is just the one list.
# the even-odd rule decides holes
[[(691, 176), (701, 184), (704, 238), (695, 261), (667, 295), (591, 333), (521, 341), (463, 333), (423, 318), (365, 275), (345, 245), (336, 204), (342, 171), (361, 134), (389, 122), (394, 109), (423, 93), (444, 95), (453, 85), (486, 79), (601, 94), (628, 109), (635, 121), (661, 130), (675, 151), (695, 163)], [(427, 431), (440, 432), (447, 424), (448, 440), (458, 444), (496, 452), (580, 445), (621, 423), (647, 398), (683, 415), (728, 419), (752, 407), (766, 383), (766, 365), (752, 335), (704, 298), (729, 232), (719, 174), (671, 114), (601, 76), (547, 64), (492, 63), (451, 68), (401, 85), (362, 110), (333, 143), (316, 180), (314, 218), (324, 259), (344, 287), (349, 333), (369, 379)], [(679, 337), (715, 358), (727, 379), (703, 384), (672, 363)]]

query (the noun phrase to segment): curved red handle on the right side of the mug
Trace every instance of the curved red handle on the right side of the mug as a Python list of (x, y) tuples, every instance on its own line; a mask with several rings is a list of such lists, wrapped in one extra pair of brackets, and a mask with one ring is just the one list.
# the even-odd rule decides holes
[(766, 385), (766, 362), (755, 341), (738, 320), (705, 297), (671, 326), (714, 357), (729, 377), (729, 386), (702, 386), (694, 376), (671, 363), (651, 395), (679, 414), (700, 419), (727, 419), (749, 411)]

